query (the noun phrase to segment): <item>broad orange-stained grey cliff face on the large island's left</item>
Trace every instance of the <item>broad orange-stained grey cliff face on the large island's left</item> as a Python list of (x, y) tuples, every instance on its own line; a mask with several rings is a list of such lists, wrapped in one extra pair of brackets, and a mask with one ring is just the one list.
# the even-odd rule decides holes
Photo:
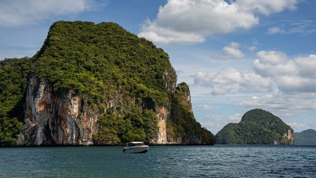
[(23, 135), (30, 145), (90, 145), (97, 114), (72, 91), (56, 93), (30, 73)]

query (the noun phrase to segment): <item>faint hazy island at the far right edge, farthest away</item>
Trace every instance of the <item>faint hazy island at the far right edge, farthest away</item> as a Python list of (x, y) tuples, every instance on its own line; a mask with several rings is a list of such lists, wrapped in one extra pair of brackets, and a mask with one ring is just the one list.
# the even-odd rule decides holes
[(307, 129), (294, 132), (295, 145), (316, 145), (316, 130)]

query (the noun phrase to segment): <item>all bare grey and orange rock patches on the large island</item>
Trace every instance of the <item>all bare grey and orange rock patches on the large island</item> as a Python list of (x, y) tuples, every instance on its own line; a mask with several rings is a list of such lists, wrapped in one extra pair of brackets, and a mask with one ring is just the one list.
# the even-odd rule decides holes
[[(170, 81), (170, 73), (166, 72), (166, 91), (175, 92), (175, 82)], [(189, 92), (189, 91), (188, 91)], [(106, 110), (116, 107), (120, 96), (108, 101)], [(192, 112), (190, 93), (187, 94), (187, 103)], [(56, 93), (52, 85), (45, 79), (36, 77), (30, 72), (25, 104), (25, 124), (20, 133), (17, 145), (92, 145), (92, 135), (97, 130), (99, 112), (91, 108), (79, 95), (71, 90)], [(182, 138), (168, 139), (167, 119), (170, 117), (169, 106), (155, 106), (151, 98), (144, 98), (142, 109), (154, 109), (158, 119), (158, 133), (150, 140), (150, 144), (181, 144)], [(193, 113), (192, 113), (193, 114)], [(196, 138), (190, 138), (188, 144), (199, 143)]]

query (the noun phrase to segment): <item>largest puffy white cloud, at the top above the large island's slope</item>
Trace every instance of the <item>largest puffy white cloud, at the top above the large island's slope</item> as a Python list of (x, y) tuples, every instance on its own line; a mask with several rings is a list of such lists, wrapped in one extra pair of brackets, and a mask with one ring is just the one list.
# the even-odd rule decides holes
[(258, 15), (294, 10), (296, 0), (169, 0), (156, 19), (142, 25), (142, 36), (157, 43), (203, 42), (205, 36), (249, 29), (259, 24)]

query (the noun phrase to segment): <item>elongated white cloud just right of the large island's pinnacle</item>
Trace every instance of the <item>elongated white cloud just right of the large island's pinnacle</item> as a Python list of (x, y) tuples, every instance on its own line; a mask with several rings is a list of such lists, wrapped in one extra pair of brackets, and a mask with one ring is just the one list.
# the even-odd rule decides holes
[[(226, 68), (218, 72), (196, 72), (193, 75), (194, 83), (203, 86), (237, 84), (239, 91), (268, 92), (272, 82), (268, 78), (255, 73), (243, 73), (234, 68)], [(228, 92), (224, 87), (214, 87), (213, 95), (225, 95)]]

